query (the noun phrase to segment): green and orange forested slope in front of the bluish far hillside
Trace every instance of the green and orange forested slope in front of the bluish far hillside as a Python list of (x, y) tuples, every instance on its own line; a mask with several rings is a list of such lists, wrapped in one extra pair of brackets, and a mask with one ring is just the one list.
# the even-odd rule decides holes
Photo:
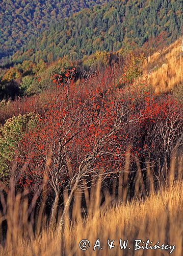
[(97, 50), (116, 51), (130, 43), (139, 46), (166, 31), (170, 41), (182, 27), (181, 0), (118, 0), (94, 6), (60, 19), (34, 36), (13, 56), (13, 61), (53, 61), (64, 55), (81, 58)]

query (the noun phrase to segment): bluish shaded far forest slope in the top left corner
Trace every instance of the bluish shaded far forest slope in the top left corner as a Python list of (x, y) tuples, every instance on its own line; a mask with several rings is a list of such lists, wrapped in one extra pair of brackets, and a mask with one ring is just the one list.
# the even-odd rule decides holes
[(0, 59), (19, 49), (33, 34), (48, 29), (50, 23), (106, 2), (109, 0), (1, 0)]

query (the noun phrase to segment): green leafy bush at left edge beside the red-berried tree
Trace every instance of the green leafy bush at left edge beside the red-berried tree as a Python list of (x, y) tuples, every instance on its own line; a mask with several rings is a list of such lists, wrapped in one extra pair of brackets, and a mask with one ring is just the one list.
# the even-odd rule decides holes
[(15, 149), (23, 134), (33, 129), (38, 116), (28, 113), (13, 116), (0, 126), (0, 175), (5, 178), (9, 174), (9, 166), (13, 160)]

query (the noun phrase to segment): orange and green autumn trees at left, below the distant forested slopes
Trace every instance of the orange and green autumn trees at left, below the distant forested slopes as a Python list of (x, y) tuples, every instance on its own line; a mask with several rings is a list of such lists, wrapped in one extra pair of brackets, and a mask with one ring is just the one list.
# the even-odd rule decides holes
[(68, 56), (58, 59), (48, 65), (43, 60), (37, 64), (31, 60), (3, 70), (0, 78), (0, 100), (14, 99), (17, 95), (32, 95), (48, 89), (51, 76), (54, 74), (64, 75), (71, 68), (71, 59)]

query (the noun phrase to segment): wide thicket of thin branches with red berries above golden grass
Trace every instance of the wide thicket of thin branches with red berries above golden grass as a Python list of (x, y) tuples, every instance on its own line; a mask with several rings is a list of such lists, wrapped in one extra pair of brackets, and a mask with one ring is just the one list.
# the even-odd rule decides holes
[(0, 154), (6, 169), (2, 166), (1, 184), (13, 177), (16, 191), (25, 189), (32, 198), (30, 207), (43, 197), (50, 224), (57, 219), (64, 190), (69, 196), (61, 222), (78, 187), (90, 187), (102, 176), (101, 189), (112, 189), (116, 181), (116, 193), (125, 190), (124, 198), (130, 199), (138, 193), (139, 180), (145, 195), (147, 178), (160, 187), (172, 152), (178, 152), (178, 160), (182, 156), (182, 105), (171, 95), (151, 94), (145, 81), (136, 84), (127, 67), (123, 72), (120, 81), (120, 70), (108, 68), (80, 83), (74, 82), (75, 68), (64, 77), (55, 74), (41, 111), (2, 127)]

